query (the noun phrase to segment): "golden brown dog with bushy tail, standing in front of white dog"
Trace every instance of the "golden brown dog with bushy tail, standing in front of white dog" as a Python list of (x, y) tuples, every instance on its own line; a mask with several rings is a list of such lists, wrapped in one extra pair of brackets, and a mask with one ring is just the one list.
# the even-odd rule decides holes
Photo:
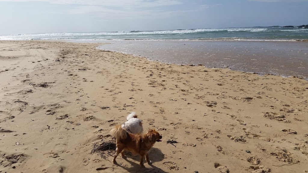
[(138, 135), (128, 133), (121, 125), (116, 125), (111, 131), (111, 136), (116, 139), (116, 150), (113, 157), (113, 163), (116, 163), (116, 157), (121, 153), (122, 158), (126, 159), (124, 151), (130, 151), (133, 154), (140, 155), (140, 166), (144, 167), (143, 158), (150, 163), (148, 151), (153, 147), (155, 142), (160, 142), (162, 136), (154, 129), (149, 130), (147, 133)]

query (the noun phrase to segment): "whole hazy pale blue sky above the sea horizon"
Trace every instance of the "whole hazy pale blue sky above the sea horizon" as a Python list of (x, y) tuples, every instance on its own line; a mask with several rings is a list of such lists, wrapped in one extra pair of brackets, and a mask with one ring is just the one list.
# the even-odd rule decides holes
[(308, 0), (0, 0), (0, 35), (308, 24)]

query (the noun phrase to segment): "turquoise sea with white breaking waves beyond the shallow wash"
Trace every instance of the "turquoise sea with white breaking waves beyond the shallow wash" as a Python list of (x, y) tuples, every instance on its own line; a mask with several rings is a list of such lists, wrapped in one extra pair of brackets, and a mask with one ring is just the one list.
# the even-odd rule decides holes
[[(1, 33), (0, 33), (1, 34)], [(308, 39), (308, 29), (281, 27), (0, 35), (0, 40), (251, 40)]]

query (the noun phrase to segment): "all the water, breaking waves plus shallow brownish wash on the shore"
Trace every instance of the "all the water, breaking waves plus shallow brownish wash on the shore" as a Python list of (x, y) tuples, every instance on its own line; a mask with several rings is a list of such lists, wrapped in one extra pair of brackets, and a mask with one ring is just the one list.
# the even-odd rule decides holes
[[(150, 60), (202, 64), (308, 79), (308, 29), (272, 27), (0, 35), (0, 40), (63, 40)], [(300, 40), (300, 41), (297, 41)]]

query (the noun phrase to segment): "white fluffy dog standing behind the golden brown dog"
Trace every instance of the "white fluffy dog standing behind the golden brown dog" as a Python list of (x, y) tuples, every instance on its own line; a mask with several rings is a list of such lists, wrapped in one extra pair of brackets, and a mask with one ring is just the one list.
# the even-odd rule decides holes
[(136, 112), (132, 112), (126, 117), (127, 122), (122, 124), (122, 128), (124, 128), (128, 133), (132, 134), (142, 134), (143, 127), (140, 119), (137, 118)]

